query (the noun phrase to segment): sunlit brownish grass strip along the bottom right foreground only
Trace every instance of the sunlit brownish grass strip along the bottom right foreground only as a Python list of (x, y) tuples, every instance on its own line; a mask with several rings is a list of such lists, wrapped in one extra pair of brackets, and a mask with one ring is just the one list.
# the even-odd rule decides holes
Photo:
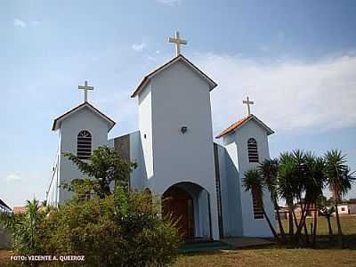
[(226, 252), (182, 255), (174, 267), (182, 266), (355, 266), (356, 251), (350, 249), (287, 249), (261, 248), (240, 249)]

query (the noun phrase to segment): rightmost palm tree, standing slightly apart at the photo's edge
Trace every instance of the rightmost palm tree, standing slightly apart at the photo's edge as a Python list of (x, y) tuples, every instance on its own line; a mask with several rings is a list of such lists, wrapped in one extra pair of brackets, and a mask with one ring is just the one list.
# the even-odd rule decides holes
[(328, 178), (328, 188), (333, 193), (335, 199), (336, 223), (339, 245), (344, 248), (343, 231), (337, 204), (341, 202), (341, 198), (348, 190), (351, 190), (352, 182), (355, 177), (350, 168), (346, 165), (346, 156), (342, 155), (340, 150), (329, 150), (324, 155), (326, 161), (325, 173)]

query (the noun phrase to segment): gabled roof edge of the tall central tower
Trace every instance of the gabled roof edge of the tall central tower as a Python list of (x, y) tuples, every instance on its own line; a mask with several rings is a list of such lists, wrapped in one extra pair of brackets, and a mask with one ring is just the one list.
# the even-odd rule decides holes
[(179, 54), (176, 57), (174, 57), (172, 60), (166, 62), (164, 65), (162, 65), (158, 69), (153, 70), (148, 75), (143, 77), (140, 85), (138, 85), (137, 88), (134, 89), (134, 93), (131, 94), (131, 97), (135, 97), (138, 93), (140, 93), (142, 88), (144, 88), (144, 86), (147, 85), (147, 83), (150, 81), (151, 77), (154, 77), (155, 75), (158, 74), (158, 72), (160, 72), (163, 69), (168, 68), (176, 61), (183, 61), (188, 66), (190, 66), (191, 69), (194, 69), (198, 73), (198, 75), (200, 77), (203, 77), (206, 80), (206, 82), (210, 85), (210, 91), (213, 90), (217, 86), (217, 84), (210, 77), (208, 77), (203, 71), (201, 71), (200, 69), (198, 69), (197, 66), (195, 66), (193, 63), (188, 61), (188, 59), (186, 57), (184, 57), (182, 54)]

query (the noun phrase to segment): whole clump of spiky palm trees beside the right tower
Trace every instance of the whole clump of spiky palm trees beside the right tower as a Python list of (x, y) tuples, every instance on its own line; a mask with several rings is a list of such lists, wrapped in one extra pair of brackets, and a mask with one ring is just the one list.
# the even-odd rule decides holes
[[(337, 203), (355, 182), (354, 173), (346, 163), (346, 158), (340, 150), (330, 150), (324, 157), (318, 157), (304, 150), (284, 152), (278, 159), (265, 159), (260, 163), (258, 172), (254, 169), (247, 171), (243, 178), (243, 186), (254, 196), (256, 192), (262, 193), (263, 190), (268, 190), (276, 211), (279, 210), (279, 199), (284, 200), (289, 209), (289, 236), (298, 240), (300, 244), (312, 246), (316, 243), (318, 210), (327, 202), (323, 197), (323, 190), (328, 186), (333, 193), (336, 208), (328, 211), (323, 209), (322, 212), (325, 212), (328, 222), (328, 212), (336, 212), (338, 236), (340, 244), (344, 247)], [(301, 208), (300, 218), (295, 215), (296, 205)], [(305, 223), (306, 216), (311, 210), (314, 212), (312, 241), (309, 239), (310, 233)], [(281, 240), (286, 241), (279, 214), (277, 219)]]

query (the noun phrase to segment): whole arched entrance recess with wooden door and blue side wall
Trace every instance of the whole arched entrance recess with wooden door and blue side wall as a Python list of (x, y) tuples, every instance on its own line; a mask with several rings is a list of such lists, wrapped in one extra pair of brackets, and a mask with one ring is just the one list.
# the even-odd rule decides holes
[(178, 182), (162, 195), (162, 214), (170, 215), (186, 241), (212, 239), (210, 197), (193, 182)]

